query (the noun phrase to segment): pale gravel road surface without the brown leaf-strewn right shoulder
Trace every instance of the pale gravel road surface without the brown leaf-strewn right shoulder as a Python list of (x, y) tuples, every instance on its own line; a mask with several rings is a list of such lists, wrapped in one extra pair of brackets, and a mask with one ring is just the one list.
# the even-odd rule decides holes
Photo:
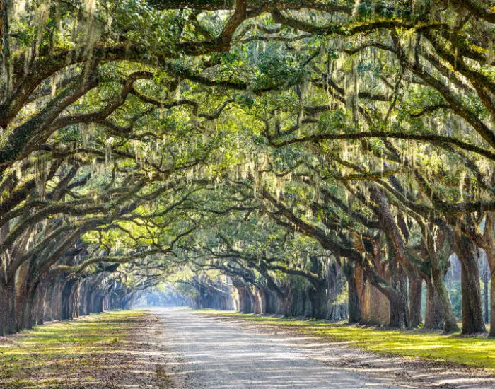
[(243, 330), (190, 310), (164, 310), (161, 316), (167, 343), (183, 362), (186, 388), (412, 388), (396, 385), (386, 375), (377, 378), (349, 367), (330, 366), (321, 360), (321, 350), (298, 347), (290, 337)]

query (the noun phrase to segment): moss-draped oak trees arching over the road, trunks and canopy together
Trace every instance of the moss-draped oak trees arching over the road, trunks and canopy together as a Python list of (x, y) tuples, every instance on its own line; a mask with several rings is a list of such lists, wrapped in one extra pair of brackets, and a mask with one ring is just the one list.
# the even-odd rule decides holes
[(0, 333), (50, 293), (71, 317), (164, 284), (286, 315), (305, 290), (309, 315), (361, 322), (372, 288), (416, 327), (423, 282), (450, 332), (453, 252), (462, 331), (485, 331), (493, 1), (0, 8)]

